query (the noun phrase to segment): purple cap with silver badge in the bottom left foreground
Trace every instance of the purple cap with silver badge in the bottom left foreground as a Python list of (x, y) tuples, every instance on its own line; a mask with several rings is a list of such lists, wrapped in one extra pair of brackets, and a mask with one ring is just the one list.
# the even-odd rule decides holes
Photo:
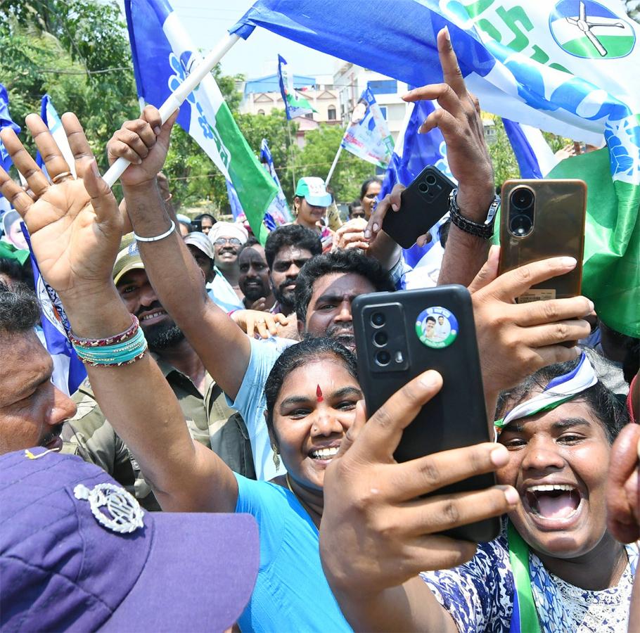
[(250, 515), (148, 513), (76, 456), (0, 456), (3, 632), (222, 631), (259, 559)]

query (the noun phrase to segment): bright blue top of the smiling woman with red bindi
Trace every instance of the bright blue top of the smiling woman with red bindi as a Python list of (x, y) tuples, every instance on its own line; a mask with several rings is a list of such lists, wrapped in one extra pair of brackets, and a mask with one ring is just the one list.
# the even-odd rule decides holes
[(241, 629), (351, 631), (322, 570), (318, 529), (295, 494), (234, 474), (236, 512), (254, 516), (260, 530), (260, 568)]

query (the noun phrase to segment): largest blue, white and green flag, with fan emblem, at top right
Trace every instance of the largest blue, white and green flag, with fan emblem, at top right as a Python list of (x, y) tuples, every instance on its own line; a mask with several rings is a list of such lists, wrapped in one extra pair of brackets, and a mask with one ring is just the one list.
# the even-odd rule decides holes
[[(611, 204), (589, 186), (582, 288), (606, 324), (640, 335), (640, 26), (620, 0), (257, 0), (230, 32), (256, 26), (412, 86), (442, 82), (446, 26), (482, 108), (595, 145), (604, 135)], [(582, 159), (563, 161), (563, 177), (589, 179)]]

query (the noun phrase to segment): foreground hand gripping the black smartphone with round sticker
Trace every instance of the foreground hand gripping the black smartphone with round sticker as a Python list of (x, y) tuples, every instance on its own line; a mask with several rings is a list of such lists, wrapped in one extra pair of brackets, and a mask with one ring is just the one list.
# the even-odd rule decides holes
[[(356, 630), (371, 629), (366, 614), (373, 613), (371, 607), (379, 604), (385, 590), (421, 571), (461, 565), (473, 557), (475, 543), (440, 532), (500, 516), (518, 504), (518, 492), (511, 486), (437, 494), (453, 482), (504, 466), (509, 457), (501, 445), (485, 443), (404, 463), (393, 459), (404, 428), (440, 388), (440, 374), (426, 371), (404, 385), (366, 424), (359, 403), (356, 421), (326, 469), (322, 564)], [(428, 493), (435, 494), (424, 498)], [(426, 600), (428, 589), (423, 591)], [(363, 613), (365, 620), (360, 620)], [(403, 628), (398, 622), (395, 626)]]

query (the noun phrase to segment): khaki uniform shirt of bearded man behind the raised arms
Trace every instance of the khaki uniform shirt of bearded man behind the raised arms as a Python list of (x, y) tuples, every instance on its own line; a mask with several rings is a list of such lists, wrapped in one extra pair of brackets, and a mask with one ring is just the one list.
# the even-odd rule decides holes
[[(255, 479), (247, 428), (240, 414), (226, 404), (222, 390), (207, 374), (203, 397), (184, 373), (155, 354), (154, 358), (178, 399), (191, 437), (213, 449), (231, 470)], [(89, 381), (80, 385), (72, 399), (78, 410), (63, 427), (61, 452), (95, 463), (131, 492), (143, 508), (160, 510), (136, 458), (105, 419)]]

